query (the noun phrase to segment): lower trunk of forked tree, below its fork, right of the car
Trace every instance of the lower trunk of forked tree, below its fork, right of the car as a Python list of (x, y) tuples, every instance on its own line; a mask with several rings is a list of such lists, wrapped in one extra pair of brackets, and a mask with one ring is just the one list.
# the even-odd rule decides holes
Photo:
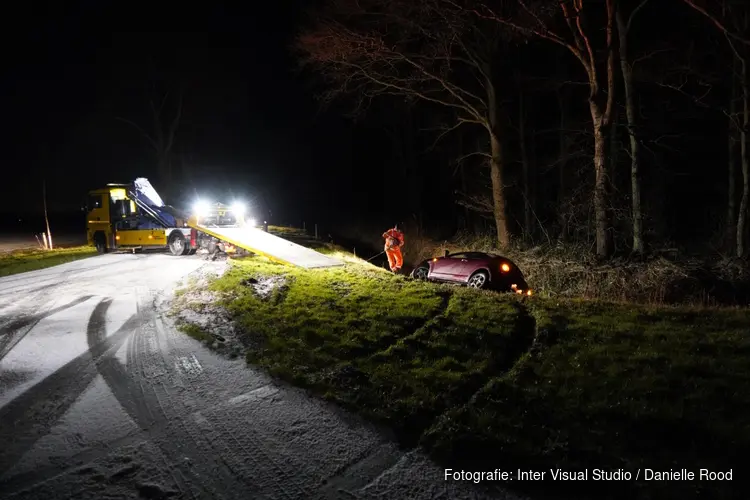
[(609, 257), (609, 217), (607, 215), (607, 124), (603, 123), (602, 110), (596, 101), (589, 101), (594, 125), (594, 219), (596, 228), (596, 255)]

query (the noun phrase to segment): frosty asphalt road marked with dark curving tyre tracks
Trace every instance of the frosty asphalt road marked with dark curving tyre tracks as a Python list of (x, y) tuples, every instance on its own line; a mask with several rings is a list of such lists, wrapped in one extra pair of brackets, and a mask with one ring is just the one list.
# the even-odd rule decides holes
[(419, 452), (177, 332), (198, 257), (0, 279), (0, 498), (478, 499)]

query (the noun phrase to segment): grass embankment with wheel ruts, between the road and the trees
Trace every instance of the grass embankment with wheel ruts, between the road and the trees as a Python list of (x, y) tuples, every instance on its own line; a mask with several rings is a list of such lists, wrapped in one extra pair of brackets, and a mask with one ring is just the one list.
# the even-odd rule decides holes
[[(282, 286), (256, 291), (278, 276)], [(447, 467), (739, 477), (750, 449), (746, 310), (527, 300), (361, 264), (304, 271), (257, 258), (211, 287), (245, 332), (249, 362), (388, 424)], [(596, 498), (729, 498), (731, 486), (600, 482)]]

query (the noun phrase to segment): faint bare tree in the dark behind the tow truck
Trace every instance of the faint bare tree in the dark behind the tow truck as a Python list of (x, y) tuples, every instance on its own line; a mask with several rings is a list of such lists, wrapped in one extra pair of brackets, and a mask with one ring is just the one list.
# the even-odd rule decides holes
[[(116, 119), (133, 126), (148, 142), (156, 155), (156, 168), (161, 181), (171, 185), (173, 181), (172, 157), (175, 139), (182, 120), (183, 92), (166, 91), (158, 99), (149, 99), (151, 127), (138, 125), (123, 117)], [(171, 116), (170, 116), (171, 115)], [(151, 128), (151, 132), (147, 130)]]

